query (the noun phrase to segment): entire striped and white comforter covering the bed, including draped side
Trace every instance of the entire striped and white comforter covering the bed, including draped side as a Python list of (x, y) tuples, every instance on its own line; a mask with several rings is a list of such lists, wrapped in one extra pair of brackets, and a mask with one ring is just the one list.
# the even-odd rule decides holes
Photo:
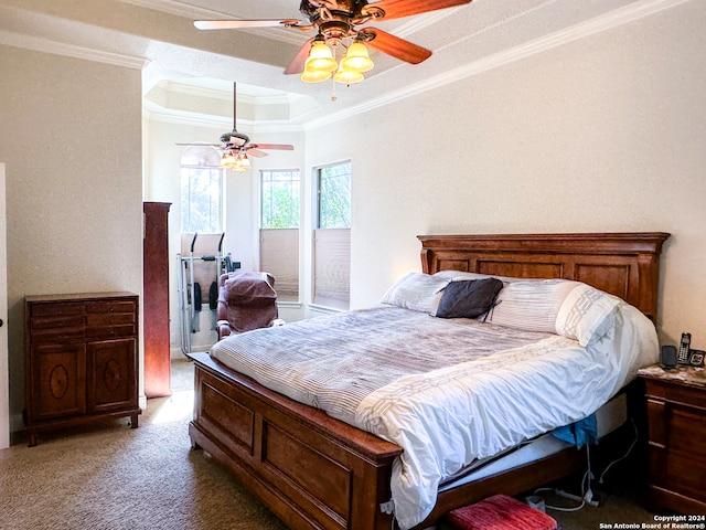
[[(490, 351), (483, 333), (501, 347)], [(616, 327), (588, 348), (389, 307), (233, 336), (211, 354), (402, 446), (392, 494), (407, 529), (429, 515), (443, 478), (595, 412), (638, 368), (656, 362), (657, 341), (652, 324), (625, 304)]]

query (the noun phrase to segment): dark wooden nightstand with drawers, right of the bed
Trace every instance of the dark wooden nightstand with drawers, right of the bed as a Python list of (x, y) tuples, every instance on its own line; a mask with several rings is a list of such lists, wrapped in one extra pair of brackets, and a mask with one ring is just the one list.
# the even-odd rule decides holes
[(659, 365), (645, 382), (651, 507), (706, 513), (706, 371)]

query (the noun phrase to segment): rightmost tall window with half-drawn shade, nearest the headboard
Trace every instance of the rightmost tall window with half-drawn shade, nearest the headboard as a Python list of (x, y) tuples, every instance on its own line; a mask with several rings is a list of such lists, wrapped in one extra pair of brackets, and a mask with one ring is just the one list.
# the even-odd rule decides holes
[(351, 162), (317, 169), (313, 303), (334, 309), (351, 305)]

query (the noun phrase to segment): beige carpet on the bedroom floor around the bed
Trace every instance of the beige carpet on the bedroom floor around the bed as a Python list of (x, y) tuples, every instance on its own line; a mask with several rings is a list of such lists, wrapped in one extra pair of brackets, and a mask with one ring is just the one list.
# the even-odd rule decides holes
[[(191, 363), (175, 362), (173, 395), (150, 400), (139, 428), (128, 428), (126, 418), (0, 451), (0, 528), (284, 530), (227, 470), (191, 451), (192, 385)], [(547, 512), (565, 530), (653, 522), (630, 496)]]

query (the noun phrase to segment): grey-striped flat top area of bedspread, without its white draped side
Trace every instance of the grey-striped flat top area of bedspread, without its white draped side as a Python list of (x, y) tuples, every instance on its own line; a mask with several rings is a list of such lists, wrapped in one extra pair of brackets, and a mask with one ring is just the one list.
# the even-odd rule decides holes
[(361, 401), (400, 378), (547, 336), (384, 306), (236, 335), (215, 344), (211, 356), (268, 389), (355, 425)]

